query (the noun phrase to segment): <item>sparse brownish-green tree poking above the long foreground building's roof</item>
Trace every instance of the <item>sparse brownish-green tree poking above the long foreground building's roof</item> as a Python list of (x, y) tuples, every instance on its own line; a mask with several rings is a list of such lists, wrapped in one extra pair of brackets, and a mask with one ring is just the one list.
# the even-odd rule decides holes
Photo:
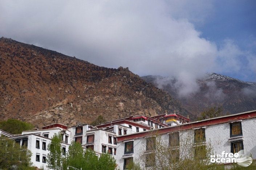
[[(226, 113), (226, 115), (229, 115), (229, 113)], [(222, 106), (220, 107), (210, 107), (209, 109), (205, 110), (202, 112), (198, 118), (198, 120), (204, 120), (204, 119), (211, 119), (211, 118), (216, 118), (219, 116), (224, 116), (223, 114), (223, 108)]]

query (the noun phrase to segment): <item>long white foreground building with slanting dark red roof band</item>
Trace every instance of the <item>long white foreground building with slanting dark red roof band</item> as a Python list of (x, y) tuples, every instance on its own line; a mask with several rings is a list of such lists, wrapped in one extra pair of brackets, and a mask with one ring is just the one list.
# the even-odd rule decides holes
[[(197, 122), (164, 127), (151, 131), (144, 131), (117, 137), (116, 160), (120, 169), (126, 169), (132, 162), (138, 162), (142, 169), (147, 169), (152, 162), (141, 161), (141, 157), (150, 156), (148, 148), (152, 147), (154, 137), (159, 137), (162, 144), (170, 146), (178, 144), (177, 157), (184, 157), (184, 150), (190, 147), (192, 150), (198, 146), (211, 144), (213, 153), (237, 153), (240, 150), (248, 150), (256, 156), (256, 111), (222, 116)], [(175, 139), (175, 140), (174, 140)], [(177, 141), (178, 140), (178, 141)], [(187, 146), (189, 145), (189, 146)], [(164, 158), (163, 158), (164, 159)], [(151, 159), (152, 160), (152, 159)], [(209, 158), (210, 160), (210, 158)], [(151, 163), (151, 164), (150, 164)]]

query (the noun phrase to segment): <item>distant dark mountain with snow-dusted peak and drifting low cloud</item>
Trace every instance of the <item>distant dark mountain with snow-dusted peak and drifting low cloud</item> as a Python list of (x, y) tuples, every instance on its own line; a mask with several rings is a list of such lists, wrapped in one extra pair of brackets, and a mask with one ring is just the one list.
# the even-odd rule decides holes
[(236, 114), (256, 110), (256, 83), (236, 78), (207, 73), (196, 81), (199, 90), (186, 97), (180, 97), (174, 77), (143, 76), (142, 79), (166, 90), (179, 99), (192, 115), (198, 115), (209, 107), (222, 105), (224, 113)]

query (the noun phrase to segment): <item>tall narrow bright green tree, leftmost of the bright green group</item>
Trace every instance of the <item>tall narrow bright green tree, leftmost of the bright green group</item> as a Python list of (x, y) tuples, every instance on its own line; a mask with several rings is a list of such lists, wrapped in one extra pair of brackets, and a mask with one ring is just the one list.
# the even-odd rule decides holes
[(48, 144), (49, 153), (47, 154), (46, 166), (49, 169), (53, 170), (62, 170), (62, 164), (65, 162), (65, 157), (62, 156), (62, 136), (61, 133), (54, 134), (52, 141)]

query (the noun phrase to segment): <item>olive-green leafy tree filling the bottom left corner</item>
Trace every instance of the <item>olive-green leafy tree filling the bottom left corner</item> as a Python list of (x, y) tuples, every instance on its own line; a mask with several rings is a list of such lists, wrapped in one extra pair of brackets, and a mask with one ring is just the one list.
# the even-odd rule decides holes
[(32, 153), (8, 137), (0, 136), (0, 168), (3, 170), (30, 169)]

